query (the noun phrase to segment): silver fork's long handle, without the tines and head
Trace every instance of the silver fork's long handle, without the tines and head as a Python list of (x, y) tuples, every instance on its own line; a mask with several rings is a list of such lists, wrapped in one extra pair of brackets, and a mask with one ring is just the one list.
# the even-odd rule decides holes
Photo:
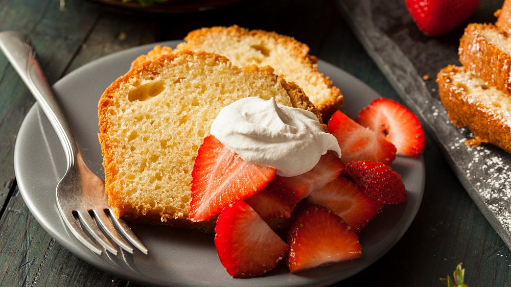
[(39, 102), (64, 148), (67, 169), (75, 162), (78, 147), (59, 103), (48, 84), (28, 38), (16, 31), (0, 32), (0, 49)]

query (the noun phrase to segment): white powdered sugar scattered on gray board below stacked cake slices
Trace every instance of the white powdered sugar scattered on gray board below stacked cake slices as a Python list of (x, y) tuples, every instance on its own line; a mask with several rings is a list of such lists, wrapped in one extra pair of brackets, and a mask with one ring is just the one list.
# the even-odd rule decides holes
[[(481, 210), (492, 213), (498, 225), (507, 234), (511, 233), (511, 154), (489, 143), (468, 146), (466, 141), (474, 138), (474, 135), (467, 128), (456, 128), (440, 101), (425, 99), (424, 103), (426, 121), (441, 127), (435, 133), (455, 161), (457, 176), (470, 196), (474, 201), (484, 204), (486, 208)], [(492, 217), (487, 215), (492, 222)]]

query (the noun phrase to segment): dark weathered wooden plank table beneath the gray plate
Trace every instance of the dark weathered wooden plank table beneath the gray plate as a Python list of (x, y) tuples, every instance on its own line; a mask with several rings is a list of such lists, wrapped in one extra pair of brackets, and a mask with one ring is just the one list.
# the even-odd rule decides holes
[[(396, 0), (401, 1), (401, 0)], [(60, 1), (63, 2), (63, 1)], [(0, 0), (0, 31), (27, 33), (50, 83), (113, 52), (182, 39), (189, 31), (237, 24), (276, 31), (399, 100), (365, 53), (333, 1), (249, 1), (188, 14), (125, 13), (86, 0)], [(341, 91), (342, 91), (342, 87)], [(0, 55), (0, 285), (135, 285), (62, 248), (32, 216), (14, 176), (16, 134), (34, 99)], [(426, 187), (417, 216), (401, 241), (339, 286), (437, 286), (459, 262), (469, 286), (511, 285), (511, 252), (485, 220), (428, 136)]]

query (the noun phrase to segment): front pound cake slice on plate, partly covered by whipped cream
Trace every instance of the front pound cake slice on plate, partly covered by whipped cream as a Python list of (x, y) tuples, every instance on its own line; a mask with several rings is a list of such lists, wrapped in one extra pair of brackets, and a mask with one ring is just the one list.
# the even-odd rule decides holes
[(113, 82), (98, 113), (106, 193), (115, 216), (203, 227), (188, 220), (191, 173), (220, 109), (244, 97), (274, 97), (320, 117), (299, 87), (272, 72), (183, 51), (137, 65)]

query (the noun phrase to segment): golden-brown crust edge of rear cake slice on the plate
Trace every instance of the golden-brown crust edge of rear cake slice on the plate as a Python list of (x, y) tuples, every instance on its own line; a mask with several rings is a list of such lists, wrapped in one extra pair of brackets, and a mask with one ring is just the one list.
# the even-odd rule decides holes
[(330, 89), (330, 97), (328, 99), (321, 99), (321, 102), (315, 103), (316, 108), (323, 115), (323, 120), (328, 122), (330, 116), (340, 107), (342, 106), (344, 99), (341, 94), (339, 88), (332, 85), (332, 81), (329, 77), (325, 77), (322, 73), (317, 71), (317, 61), (318, 59), (314, 56), (309, 55), (309, 46), (304, 43), (301, 43), (295, 40), (293, 37), (280, 35), (275, 32), (268, 32), (264, 30), (247, 30), (245, 28), (241, 28), (237, 25), (230, 27), (211, 27), (211, 28), (202, 28), (195, 31), (190, 32), (184, 40), (186, 42), (180, 43), (178, 45), (179, 50), (192, 50), (196, 41), (201, 39), (203, 36), (208, 34), (222, 33), (227, 35), (233, 35), (237, 37), (243, 36), (251, 36), (258, 39), (268, 39), (272, 38), (277, 43), (287, 46), (291, 51), (294, 52), (296, 58), (307, 66), (312, 73), (318, 73), (323, 82)]

